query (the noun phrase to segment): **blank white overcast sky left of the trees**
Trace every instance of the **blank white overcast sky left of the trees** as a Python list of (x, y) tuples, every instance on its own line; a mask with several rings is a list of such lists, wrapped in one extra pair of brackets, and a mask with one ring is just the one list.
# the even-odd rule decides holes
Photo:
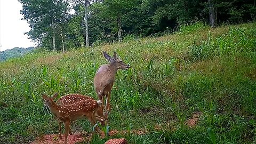
[(0, 51), (35, 46), (28, 35), (24, 35), (30, 28), (26, 20), (21, 20), (21, 9), (18, 0), (0, 0)]

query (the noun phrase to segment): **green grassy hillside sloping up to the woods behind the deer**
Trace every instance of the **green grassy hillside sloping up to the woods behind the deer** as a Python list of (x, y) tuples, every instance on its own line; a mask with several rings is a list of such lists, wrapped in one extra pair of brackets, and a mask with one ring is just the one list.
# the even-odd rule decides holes
[[(102, 51), (117, 51), (133, 66), (116, 75), (111, 129), (144, 132), (114, 138), (129, 143), (212, 143), (210, 127), (217, 143), (256, 142), (256, 23), (211, 29), (198, 22), (172, 35), (1, 62), (1, 143), (28, 143), (58, 133), (41, 93), (97, 98), (93, 77), (107, 63)], [(188, 126), (195, 114), (199, 121)], [(72, 129), (91, 131), (87, 120), (73, 123)], [(91, 143), (107, 139), (96, 135)]]

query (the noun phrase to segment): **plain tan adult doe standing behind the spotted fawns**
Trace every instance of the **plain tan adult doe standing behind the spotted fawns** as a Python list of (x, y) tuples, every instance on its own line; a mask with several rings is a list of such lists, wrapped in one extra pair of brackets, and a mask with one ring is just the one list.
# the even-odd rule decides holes
[(107, 113), (110, 111), (110, 94), (114, 84), (116, 71), (118, 69), (129, 69), (131, 66), (117, 58), (116, 52), (114, 52), (113, 57), (110, 57), (110, 55), (105, 51), (103, 51), (103, 55), (107, 60), (109, 60), (109, 63), (101, 65), (96, 72), (94, 77), (94, 89), (99, 100), (104, 101), (104, 97), (106, 97), (105, 119), (107, 122)]

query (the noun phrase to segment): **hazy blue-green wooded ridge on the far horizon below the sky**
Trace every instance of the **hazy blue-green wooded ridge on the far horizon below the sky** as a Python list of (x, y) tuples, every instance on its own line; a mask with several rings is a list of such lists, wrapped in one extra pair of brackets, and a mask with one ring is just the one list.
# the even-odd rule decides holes
[(11, 50), (2, 51), (0, 52), (0, 61), (5, 61), (9, 58), (20, 57), (21, 55), (26, 54), (34, 49), (34, 46), (27, 47), (26, 49), (23, 47), (14, 47)]

